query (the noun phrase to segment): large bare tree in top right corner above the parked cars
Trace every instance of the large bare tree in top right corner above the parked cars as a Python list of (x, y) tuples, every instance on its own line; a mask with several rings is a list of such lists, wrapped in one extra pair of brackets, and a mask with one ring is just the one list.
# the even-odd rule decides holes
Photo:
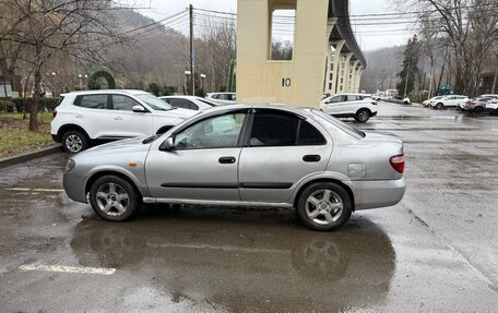
[(448, 47), (454, 92), (475, 94), (484, 60), (498, 40), (496, 0), (393, 1), (403, 10), (418, 12), (422, 33)]

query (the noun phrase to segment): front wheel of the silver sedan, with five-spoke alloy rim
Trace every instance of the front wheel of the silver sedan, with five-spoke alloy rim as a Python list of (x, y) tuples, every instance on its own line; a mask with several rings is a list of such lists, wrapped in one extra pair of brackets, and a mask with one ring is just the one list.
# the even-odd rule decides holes
[(139, 192), (127, 180), (103, 176), (90, 189), (90, 203), (95, 213), (110, 221), (123, 221), (137, 216), (142, 206)]

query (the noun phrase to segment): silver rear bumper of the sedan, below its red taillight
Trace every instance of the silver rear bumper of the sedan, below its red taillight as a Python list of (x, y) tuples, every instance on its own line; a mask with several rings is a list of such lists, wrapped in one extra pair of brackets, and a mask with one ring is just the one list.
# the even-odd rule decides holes
[(398, 204), (406, 190), (404, 178), (398, 180), (352, 181), (355, 209), (384, 207)]

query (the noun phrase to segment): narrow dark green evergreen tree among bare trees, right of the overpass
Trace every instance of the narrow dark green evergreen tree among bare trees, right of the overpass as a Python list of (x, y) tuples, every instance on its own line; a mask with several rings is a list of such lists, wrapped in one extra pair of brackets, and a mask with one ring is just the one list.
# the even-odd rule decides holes
[[(418, 58), (419, 58), (419, 47), (418, 47), (417, 36), (408, 39), (405, 50), (403, 51), (403, 69), (398, 73), (400, 77), (399, 83), (396, 84), (396, 89), (399, 95), (403, 97), (408, 96), (410, 93), (415, 87), (415, 80), (418, 76)], [(405, 94), (406, 88), (406, 94)]]

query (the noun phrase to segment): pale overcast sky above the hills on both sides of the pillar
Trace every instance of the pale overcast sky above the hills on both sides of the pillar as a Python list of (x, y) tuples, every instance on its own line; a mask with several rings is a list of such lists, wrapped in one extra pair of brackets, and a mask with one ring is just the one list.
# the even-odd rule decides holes
[[(185, 10), (189, 3), (200, 9), (237, 12), (237, 0), (122, 0), (121, 2), (141, 8), (150, 7), (151, 9), (140, 10), (140, 12), (156, 21)], [(395, 12), (390, 7), (390, 0), (351, 0), (349, 5), (352, 15)], [(403, 45), (410, 37), (410, 32), (403, 31), (406, 27), (403, 25), (355, 25), (386, 22), (383, 19), (376, 21), (365, 19), (370, 17), (352, 17), (353, 31), (356, 33), (356, 40), (363, 50)], [(186, 32), (188, 24), (180, 21), (174, 25), (174, 28)]]

